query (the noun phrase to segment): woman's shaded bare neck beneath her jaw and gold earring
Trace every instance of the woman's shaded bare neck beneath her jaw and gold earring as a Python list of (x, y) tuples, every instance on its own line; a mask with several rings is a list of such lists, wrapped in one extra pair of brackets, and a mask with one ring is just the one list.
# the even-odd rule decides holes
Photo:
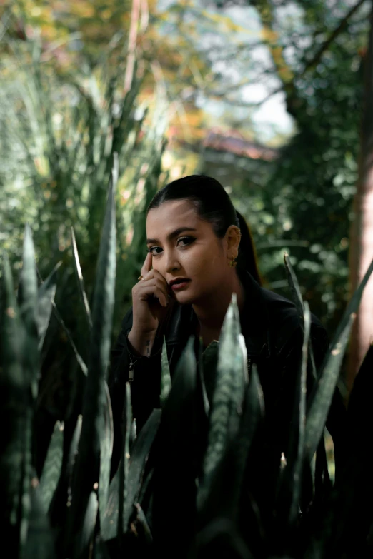
[(232, 293), (237, 293), (237, 306), (241, 316), (244, 308), (245, 293), (236, 271), (232, 273), (228, 283), (224, 283), (216, 288), (210, 296), (204, 297), (203, 301), (192, 305), (199, 321), (200, 332), (216, 332), (221, 330), (229, 303), (232, 301)]

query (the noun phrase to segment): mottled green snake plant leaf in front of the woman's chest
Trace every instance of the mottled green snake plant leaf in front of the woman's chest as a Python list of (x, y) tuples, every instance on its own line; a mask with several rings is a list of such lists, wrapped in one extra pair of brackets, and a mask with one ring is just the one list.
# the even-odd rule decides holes
[(214, 471), (222, 460), (227, 444), (239, 430), (246, 386), (244, 353), (242, 343), (239, 341), (239, 334), (241, 331), (237, 296), (236, 293), (233, 293), (219, 341), (217, 375), (209, 417), (208, 443), (204, 455), (202, 483), (198, 491), (199, 510), (209, 494)]

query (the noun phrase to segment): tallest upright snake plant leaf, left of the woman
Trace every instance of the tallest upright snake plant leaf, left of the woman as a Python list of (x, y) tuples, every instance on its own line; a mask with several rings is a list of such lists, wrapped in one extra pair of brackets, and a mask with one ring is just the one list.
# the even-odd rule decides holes
[[(116, 159), (117, 164), (117, 159)], [(112, 176), (114, 176), (114, 172)], [(83, 396), (83, 422), (78, 455), (72, 480), (72, 500), (66, 521), (66, 553), (83, 530), (84, 518), (91, 492), (99, 483), (101, 437), (105, 436), (106, 390), (105, 375), (109, 363), (111, 326), (114, 311), (116, 271), (116, 225), (114, 180), (109, 186), (104, 226), (102, 229), (99, 258), (94, 285), (91, 340), (89, 346), (88, 375)], [(93, 505), (91, 505), (93, 506)]]

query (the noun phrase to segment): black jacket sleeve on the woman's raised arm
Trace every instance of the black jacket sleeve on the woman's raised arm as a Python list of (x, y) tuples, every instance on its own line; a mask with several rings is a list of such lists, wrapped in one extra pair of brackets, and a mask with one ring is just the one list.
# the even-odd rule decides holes
[(161, 341), (154, 344), (149, 357), (139, 356), (128, 340), (132, 328), (132, 307), (124, 316), (121, 332), (111, 350), (108, 386), (114, 423), (114, 448), (111, 473), (119, 464), (121, 455), (121, 427), (124, 414), (124, 395), (129, 381), (130, 360), (134, 363), (131, 386), (132, 415), (136, 418), (137, 432), (154, 408), (159, 408), (161, 385)]

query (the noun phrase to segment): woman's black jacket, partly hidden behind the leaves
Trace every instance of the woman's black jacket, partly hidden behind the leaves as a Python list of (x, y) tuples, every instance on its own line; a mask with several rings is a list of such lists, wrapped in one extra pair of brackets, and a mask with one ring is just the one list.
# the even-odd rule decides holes
[[(250, 363), (256, 363), (264, 393), (266, 421), (270, 425), (277, 455), (287, 450), (287, 433), (292, 421), (294, 387), (302, 360), (302, 327), (294, 303), (273, 291), (262, 288), (249, 272), (240, 277), (246, 293), (242, 333)], [(192, 305), (176, 303), (169, 326), (166, 328), (167, 356), (171, 378), (181, 352), (191, 333), (197, 316)], [(121, 413), (124, 405), (125, 383), (133, 363), (131, 398), (137, 430), (141, 429), (153, 408), (159, 407), (161, 376), (161, 339), (154, 344), (151, 355), (136, 356), (127, 339), (132, 327), (132, 308), (124, 316), (121, 333), (111, 351), (109, 391), (114, 416), (114, 455), (119, 459), (118, 441), (121, 440)], [(311, 338), (317, 368), (329, 348), (329, 339), (319, 319), (312, 314)], [(132, 366), (132, 365), (131, 365)], [(308, 371), (307, 388), (312, 382)], [(309, 393), (309, 390), (307, 390)], [(334, 394), (327, 428), (334, 440), (334, 450), (343, 440), (345, 408), (339, 391)]]

